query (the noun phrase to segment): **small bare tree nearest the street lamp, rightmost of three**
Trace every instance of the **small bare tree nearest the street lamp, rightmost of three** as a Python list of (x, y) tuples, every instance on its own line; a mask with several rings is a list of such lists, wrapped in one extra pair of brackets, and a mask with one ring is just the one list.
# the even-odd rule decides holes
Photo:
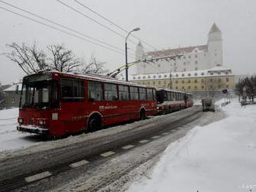
[(94, 54), (91, 55), (88, 62), (82, 61), (81, 73), (83, 74), (103, 74), (108, 70), (105, 67), (106, 62), (99, 62), (95, 59)]

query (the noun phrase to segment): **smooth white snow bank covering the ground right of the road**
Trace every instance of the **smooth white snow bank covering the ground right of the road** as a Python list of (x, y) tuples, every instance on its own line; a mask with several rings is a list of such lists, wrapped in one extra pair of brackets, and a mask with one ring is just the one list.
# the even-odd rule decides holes
[(161, 160), (128, 191), (256, 190), (256, 106), (232, 102), (220, 122), (195, 127), (168, 146)]

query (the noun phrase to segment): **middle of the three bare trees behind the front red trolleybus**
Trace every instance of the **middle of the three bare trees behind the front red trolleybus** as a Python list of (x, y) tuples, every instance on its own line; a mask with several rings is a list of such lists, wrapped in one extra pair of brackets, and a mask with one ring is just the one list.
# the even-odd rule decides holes
[(61, 72), (73, 72), (81, 66), (81, 61), (74, 56), (71, 50), (67, 50), (64, 45), (47, 46), (50, 51), (50, 69)]

